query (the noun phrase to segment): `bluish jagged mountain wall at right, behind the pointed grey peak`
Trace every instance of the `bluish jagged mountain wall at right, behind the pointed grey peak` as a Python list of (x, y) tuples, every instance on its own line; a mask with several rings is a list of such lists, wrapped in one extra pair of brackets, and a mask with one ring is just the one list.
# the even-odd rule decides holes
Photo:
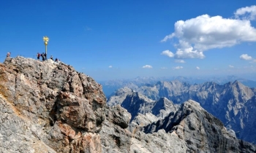
[(238, 81), (228, 82), (225, 85), (215, 82), (190, 85), (176, 80), (142, 86), (136, 88), (136, 91), (154, 101), (162, 97), (168, 98), (173, 103), (183, 103), (189, 99), (197, 101), (200, 106), (221, 119), (228, 129), (234, 130), (238, 138), (256, 143), (255, 88), (246, 87)]

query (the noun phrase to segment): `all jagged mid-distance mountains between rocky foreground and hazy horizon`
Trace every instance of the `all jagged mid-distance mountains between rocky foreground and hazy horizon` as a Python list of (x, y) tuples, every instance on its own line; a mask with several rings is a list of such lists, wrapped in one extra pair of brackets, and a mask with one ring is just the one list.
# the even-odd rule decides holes
[[(227, 129), (234, 130), (238, 138), (255, 143), (255, 94), (255, 88), (246, 87), (238, 81), (228, 82), (224, 85), (216, 82), (191, 85), (176, 80), (157, 82), (154, 85), (144, 85), (133, 89), (121, 88), (117, 90), (116, 95), (108, 99), (108, 105), (121, 104), (132, 114), (132, 119), (134, 119), (138, 113), (151, 113), (157, 116), (159, 114), (154, 113), (156, 109), (168, 111), (157, 104), (164, 97), (174, 104), (181, 104), (192, 99), (200, 103), (200, 106), (206, 111), (222, 120)], [(173, 104), (169, 102), (169, 105)]]

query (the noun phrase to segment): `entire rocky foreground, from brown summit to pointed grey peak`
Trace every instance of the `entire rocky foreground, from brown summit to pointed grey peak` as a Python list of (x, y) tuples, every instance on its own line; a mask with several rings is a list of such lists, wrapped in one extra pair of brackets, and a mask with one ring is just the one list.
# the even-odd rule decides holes
[(129, 131), (131, 117), (72, 66), (0, 63), (0, 152), (256, 152), (195, 101)]

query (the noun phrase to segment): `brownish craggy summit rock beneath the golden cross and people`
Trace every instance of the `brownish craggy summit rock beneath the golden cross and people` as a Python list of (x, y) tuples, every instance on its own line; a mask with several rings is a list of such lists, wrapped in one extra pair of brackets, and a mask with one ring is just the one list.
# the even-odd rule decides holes
[(97, 133), (105, 119), (105, 95), (101, 85), (72, 66), (7, 58), (0, 64), (0, 103), (0, 152), (102, 150)]

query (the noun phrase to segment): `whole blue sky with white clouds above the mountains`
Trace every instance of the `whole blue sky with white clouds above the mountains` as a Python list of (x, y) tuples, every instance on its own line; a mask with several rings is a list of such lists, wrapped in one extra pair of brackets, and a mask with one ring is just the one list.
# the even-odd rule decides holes
[[(48, 57), (97, 81), (256, 76), (256, 2), (1, 1), (0, 60)], [(256, 77), (255, 77), (256, 78)]]

